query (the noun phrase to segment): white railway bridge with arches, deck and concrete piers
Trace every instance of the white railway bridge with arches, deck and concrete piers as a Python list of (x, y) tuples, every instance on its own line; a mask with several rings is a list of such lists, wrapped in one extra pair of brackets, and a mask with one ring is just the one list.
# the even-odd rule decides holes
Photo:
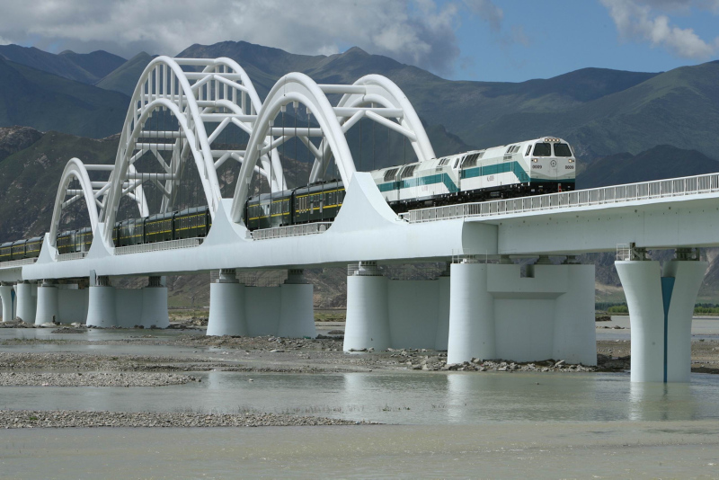
[[(698, 249), (719, 244), (719, 174), (397, 215), (352, 158), (346, 134), (363, 120), (395, 132), (419, 160), (435, 156), (412, 104), (383, 76), (316, 84), (291, 73), (262, 102), (229, 58), (155, 58), (133, 93), (115, 163), (70, 159), (39, 255), (0, 262), (4, 320), (164, 327), (164, 277), (209, 271), (209, 335), (315, 336), (303, 271), (342, 266), (345, 351), (428, 348), (447, 350), (449, 363), (594, 365), (594, 266), (576, 255), (622, 244), (631, 378), (688, 381), (691, 317), (707, 267)], [(332, 170), (342, 180), (342, 209), (332, 222), (250, 231), (246, 198), (258, 185), (270, 195), (287, 189), (283, 149), (298, 144), (311, 156), (309, 182)], [(116, 244), (122, 216), (161, 222), (188, 205), (191, 175), (211, 218), (207, 235)], [(86, 210), (87, 241), (64, 253), (58, 236), (74, 205)], [(647, 259), (647, 249), (662, 248), (676, 258)], [(420, 262), (446, 268), (427, 280), (391, 273)], [(238, 279), (257, 270), (286, 270), (287, 280), (258, 287)], [(147, 277), (147, 286), (112, 286), (124, 277)]]

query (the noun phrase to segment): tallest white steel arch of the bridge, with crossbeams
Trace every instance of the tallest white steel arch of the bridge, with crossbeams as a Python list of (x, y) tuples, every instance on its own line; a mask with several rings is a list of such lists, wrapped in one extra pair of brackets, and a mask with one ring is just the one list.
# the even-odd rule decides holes
[[(201, 71), (197, 71), (198, 68)], [(187, 161), (197, 166), (202, 190), (214, 217), (221, 200), (217, 168), (228, 159), (242, 162), (244, 151), (213, 150), (211, 145), (230, 123), (251, 133), (261, 105), (249, 76), (234, 60), (167, 57), (152, 60), (132, 95), (108, 194), (102, 204), (100, 221), (104, 222), (106, 244), (111, 244), (120, 198), (129, 195), (146, 204), (143, 182), (153, 182), (162, 193), (161, 211), (173, 209)], [(177, 120), (176, 129), (146, 127), (146, 120), (156, 111), (169, 111)], [(206, 124), (214, 126), (210, 135)], [(172, 155), (169, 162), (162, 154), (164, 151)], [(147, 152), (156, 157), (160, 173), (135, 170), (133, 164)], [(273, 178), (268, 178), (272, 186), (284, 188), (279, 156), (275, 153), (274, 157), (263, 158), (263, 162), (266, 168), (258, 169), (260, 173), (272, 171)], [(147, 209), (140, 209), (142, 217), (149, 213)]]

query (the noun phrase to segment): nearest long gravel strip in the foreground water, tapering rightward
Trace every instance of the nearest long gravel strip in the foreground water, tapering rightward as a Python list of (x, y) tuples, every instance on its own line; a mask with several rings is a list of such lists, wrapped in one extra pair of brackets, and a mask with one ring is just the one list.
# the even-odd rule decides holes
[(359, 425), (335, 418), (295, 416), (277, 413), (126, 413), (78, 412), (70, 410), (0, 410), (0, 428), (68, 427), (299, 427), (318, 425)]

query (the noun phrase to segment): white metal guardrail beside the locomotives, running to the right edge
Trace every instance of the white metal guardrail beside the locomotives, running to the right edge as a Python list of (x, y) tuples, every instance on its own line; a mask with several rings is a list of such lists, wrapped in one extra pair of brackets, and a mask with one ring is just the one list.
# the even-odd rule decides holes
[(587, 207), (622, 203), (635, 200), (651, 200), (667, 197), (684, 197), (719, 191), (719, 173), (693, 177), (672, 178), (654, 182), (627, 183), (590, 190), (564, 191), (533, 197), (509, 200), (492, 200), (461, 205), (447, 205), (430, 209), (411, 210), (400, 214), (409, 223), (432, 222), (452, 218), (493, 217), (511, 213), (523, 213), (549, 209)]

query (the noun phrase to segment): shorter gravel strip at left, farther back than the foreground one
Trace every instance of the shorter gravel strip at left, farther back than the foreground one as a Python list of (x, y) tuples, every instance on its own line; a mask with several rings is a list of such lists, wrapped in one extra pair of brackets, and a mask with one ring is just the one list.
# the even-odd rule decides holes
[(201, 382), (173, 373), (31, 373), (0, 372), (0, 387), (164, 387)]

